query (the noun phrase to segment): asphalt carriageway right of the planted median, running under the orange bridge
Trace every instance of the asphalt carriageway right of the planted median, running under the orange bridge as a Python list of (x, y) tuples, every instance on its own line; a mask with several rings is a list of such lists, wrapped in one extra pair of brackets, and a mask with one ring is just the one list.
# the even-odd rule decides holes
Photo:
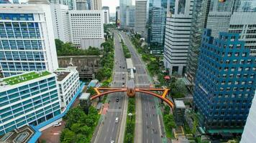
[[(129, 51), (132, 54), (132, 62), (136, 67), (136, 87), (149, 87), (150, 81), (148, 79), (145, 65), (140, 60), (140, 56), (133, 48), (132, 42), (124, 32), (119, 32), (124, 39), (124, 43), (127, 45)], [(155, 109), (155, 98), (148, 94), (140, 94), (142, 99), (142, 129), (139, 134), (142, 134), (143, 143), (160, 143), (162, 142), (159, 122), (157, 119), (157, 113)], [(137, 133), (135, 133), (137, 134)]]

